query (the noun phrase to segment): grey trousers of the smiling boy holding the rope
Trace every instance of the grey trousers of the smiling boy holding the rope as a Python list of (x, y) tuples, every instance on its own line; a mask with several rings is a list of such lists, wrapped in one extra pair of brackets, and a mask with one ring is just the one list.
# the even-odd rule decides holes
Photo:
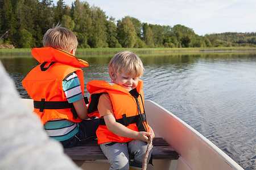
[[(108, 158), (110, 163), (109, 169), (122, 169), (127, 170), (129, 166), (142, 168), (143, 157), (147, 151), (147, 143), (142, 140), (131, 140), (125, 143), (102, 143), (100, 144), (101, 150)], [(148, 155), (147, 163), (150, 160)], [(129, 155), (134, 155), (134, 160), (129, 160)]]

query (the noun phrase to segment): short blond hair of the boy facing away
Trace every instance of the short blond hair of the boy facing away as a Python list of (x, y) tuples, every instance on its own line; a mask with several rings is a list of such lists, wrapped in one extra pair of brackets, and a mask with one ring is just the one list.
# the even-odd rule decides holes
[(44, 34), (43, 45), (71, 52), (72, 49), (77, 48), (77, 38), (72, 31), (61, 27), (61, 24), (57, 23), (56, 26), (53, 24), (53, 27)]

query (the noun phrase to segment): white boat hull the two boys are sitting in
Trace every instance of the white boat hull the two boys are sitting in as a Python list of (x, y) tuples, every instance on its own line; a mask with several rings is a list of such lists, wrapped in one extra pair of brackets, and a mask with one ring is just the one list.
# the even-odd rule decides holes
[[(31, 99), (22, 99), (33, 110)], [(156, 135), (164, 138), (180, 155), (178, 160), (153, 160), (147, 169), (243, 169), (207, 138), (187, 125), (170, 111), (145, 100), (148, 124)], [(106, 160), (86, 161), (83, 169), (109, 169)]]

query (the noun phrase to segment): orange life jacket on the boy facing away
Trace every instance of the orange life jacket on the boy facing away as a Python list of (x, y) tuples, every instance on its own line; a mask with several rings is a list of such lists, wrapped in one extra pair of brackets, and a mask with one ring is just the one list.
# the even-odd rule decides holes
[(73, 105), (67, 101), (62, 81), (68, 74), (76, 72), (84, 95), (84, 75), (81, 67), (89, 64), (53, 47), (32, 48), (31, 53), (41, 64), (27, 74), (22, 85), (28, 96), (34, 100), (34, 112), (42, 119), (43, 125), (56, 118), (81, 122), (71, 111)]

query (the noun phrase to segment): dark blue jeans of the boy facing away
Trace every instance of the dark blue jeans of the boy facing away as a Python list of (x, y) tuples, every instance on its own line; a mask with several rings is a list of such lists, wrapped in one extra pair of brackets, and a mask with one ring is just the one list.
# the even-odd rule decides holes
[(96, 137), (96, 130), (100, 124), (100, 119), (82, 120), (79, 123), (79, 132), (72, 138), (61, 141), (64, 148), (71, 148), (73, 146), (79, 146), (85, 144)]

